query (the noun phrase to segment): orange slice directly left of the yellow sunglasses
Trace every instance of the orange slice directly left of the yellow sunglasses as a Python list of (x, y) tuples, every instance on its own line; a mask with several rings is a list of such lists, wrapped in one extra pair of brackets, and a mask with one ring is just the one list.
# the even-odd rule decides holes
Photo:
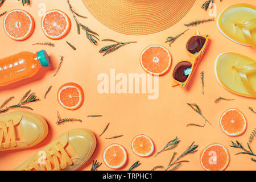
[(163, 46), (149, 46), (141, 53), (141, 66), (147, 73), (163, 75), (171, 67), (170, 52)]

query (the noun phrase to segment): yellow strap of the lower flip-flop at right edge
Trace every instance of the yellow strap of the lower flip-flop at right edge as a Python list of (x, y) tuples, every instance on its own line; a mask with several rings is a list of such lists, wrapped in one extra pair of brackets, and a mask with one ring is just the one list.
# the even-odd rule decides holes
[(245, 88), (253, 95), (256, 96), (256, 92), (254, 91), (253, 87), (251, 86), (248, 76), (250, 74), (256, 73), (256, 63), (249, 64), (244, 67), (242, 67), (239, 71), (239, 75), (241, 77), (242, 83), (245, 86)]

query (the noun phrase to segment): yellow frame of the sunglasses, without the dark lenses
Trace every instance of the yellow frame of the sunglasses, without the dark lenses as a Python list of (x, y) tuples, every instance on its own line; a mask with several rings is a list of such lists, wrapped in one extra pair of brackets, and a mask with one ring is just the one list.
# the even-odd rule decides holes
[[(200, 50), (198, 53), (196, 53), (195, 55), (192, 54), (191, 52), (189, 52), (188, 49), (187, 49), (188, 41), (189, 41), (193, 36), (201, 36), (201, 37), (205, 38), (204, 46), (203, 46), (203, 47), (201, 48), (201, 50)], [(182, 88), (184, 88), (185, 86), (187, 86), (189, 80), (191, 79), (193, 73), (196, 71), (196, 68), (197, 68), (197, 66), (199, 65), (199, 63), (200, 63), (200, 61), (201, 61), (201, 59), (202, 59), (202, 57), (203, 57), (203, 55), (204, 55), (205, 49), (207, 48), (208, 43), (209, 43), (209, 39), (210, 39), (210, 36), (209, 36), (209, 35), (200, 35), (200, 34), (199, 34), (199, 31), (196, 31), (195, 35), (192, 35), (192, 36), (188, 39), (187, 43), (185, 44), (185, 49), (187, 50), (188, 54), (191, 56), (191, 59), (179, 61), (179, 62), (175, 65), (174, 69), (175, 69), (176, 66), (177, 66), (179, 63), (181, 63), (181, 62), (189, 62), (189, 63), (192, 64), (191, 73), (189, 74), (189, 76), (188, 76), (188, 78), (187, 78), (186, 81), (180, 82), (180, 81), (175, 80), (175, 78), (174, 78), (174, 70), (173, 70), (173, 71), (172, 71), (172, 80), (174, 80), (174, 81), (172, 82), (172, 87), (177, 86), (177, 85), (180, 85)]]

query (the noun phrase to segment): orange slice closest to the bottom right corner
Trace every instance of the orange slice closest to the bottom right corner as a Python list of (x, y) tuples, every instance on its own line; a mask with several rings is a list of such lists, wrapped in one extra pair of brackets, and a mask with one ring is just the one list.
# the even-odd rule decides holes
[(202, 167), (207, 171), (223, 171), (229, 164), (229, 152), (221, 144), (210, 144), (200, 156)]

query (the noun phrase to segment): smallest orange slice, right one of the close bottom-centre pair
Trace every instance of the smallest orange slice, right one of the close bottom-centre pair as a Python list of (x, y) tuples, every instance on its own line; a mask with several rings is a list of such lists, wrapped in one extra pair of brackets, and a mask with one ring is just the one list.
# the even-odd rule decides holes
[(146, 135), (138, 135), (131, 142), (131, 149), (138, 156), (150, 156), (154, 152), (154, 144)]

